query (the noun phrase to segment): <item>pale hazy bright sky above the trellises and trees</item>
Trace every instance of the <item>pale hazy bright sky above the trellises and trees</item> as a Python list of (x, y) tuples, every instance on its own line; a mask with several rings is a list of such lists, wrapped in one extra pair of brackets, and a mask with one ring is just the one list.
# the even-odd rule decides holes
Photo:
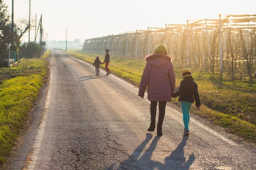
[[(3, 0), (11, 14), (12, 0)], [(256, 0), (31, 0), (48, 40), (72, 41), (126, 31), (186, 24), (186, 20), (217, 19), (218, 14), (256, 14)], [(29, 0), (14, 0), (14, 20), (29, 18)], [(31, 31), (31, 40), (35, 32)], [(28, 34), (23, 37), (28, 41)]]

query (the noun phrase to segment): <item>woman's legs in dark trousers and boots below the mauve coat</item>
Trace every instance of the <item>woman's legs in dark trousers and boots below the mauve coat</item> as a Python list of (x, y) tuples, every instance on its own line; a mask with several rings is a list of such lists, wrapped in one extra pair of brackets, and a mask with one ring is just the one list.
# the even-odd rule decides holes
[[(163, 119), (165, 115), (166, 102), (159, 102), (158, 108), (159, 108), (159, 116), (158, 116), (158, 123), (157, 123), (157, 135), (161, 136), (163, 135), (162, 125), (163, 125)], [(155, 129), (156, 114), (157, 114), (157, 102), (151, 102), (150, 104), (151, 123), (150, 123), (150, 127), (148, 128), (148, 131), (153, 132)]]

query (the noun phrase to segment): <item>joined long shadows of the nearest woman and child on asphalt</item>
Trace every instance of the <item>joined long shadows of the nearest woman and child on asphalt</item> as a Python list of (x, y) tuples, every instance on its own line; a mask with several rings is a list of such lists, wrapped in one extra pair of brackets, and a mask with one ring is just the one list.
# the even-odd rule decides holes
[[(121, 162), (121, 165), (117, 169), (188, 170), (192, 163), (195, 161), (195, 155), (193, 153), (189, 156), (187, 161), (186, 157), (184, 156), (184, 147), (186, 145), (188, 136), (183, 136), (183, 139), (177, 148), (170, 154), (170, 156), (165, 158), (165, 164), (151, 160), (151, 156), (157, 146), (158, 140), (160, 139), (159, 136), (154, 137), (148, 149), (140, 157), (143, 149), (152, 139), (152, 137), (153, 136), (150, 133), (147, 133), (145, 140), (134, 150), (128, 159)], [(139, 157), (140, 159), (138, 159)], [(107, 170), (116, 169), (113, 167), (114, 164), (108, 167)]]

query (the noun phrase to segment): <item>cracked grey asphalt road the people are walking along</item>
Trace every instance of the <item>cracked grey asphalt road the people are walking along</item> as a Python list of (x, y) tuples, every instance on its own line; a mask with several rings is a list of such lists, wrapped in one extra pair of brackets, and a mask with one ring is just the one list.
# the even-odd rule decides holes
[(150, 103), (137, 88), (103, 71), (96, 77), (92, 65), (53, 53), (40, 126), (25, 141), (29, 155), (18, 156), (11, 169), (256, 169), (255, 147), (193, 118), (191, 135), (183, 136), (182, 115), (170, 104), (163, 136), (147, 133)]

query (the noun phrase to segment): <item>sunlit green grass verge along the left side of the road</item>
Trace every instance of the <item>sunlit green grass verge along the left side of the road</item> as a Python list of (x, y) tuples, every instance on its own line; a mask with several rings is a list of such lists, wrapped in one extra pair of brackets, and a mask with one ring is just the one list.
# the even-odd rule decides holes
[(0, 87), (0, 164), (24, 129), (29, 110), (44, 83), (46, 64), (45, 60), (25, 60), (17, 68), (0, 69), (5, 78)]

